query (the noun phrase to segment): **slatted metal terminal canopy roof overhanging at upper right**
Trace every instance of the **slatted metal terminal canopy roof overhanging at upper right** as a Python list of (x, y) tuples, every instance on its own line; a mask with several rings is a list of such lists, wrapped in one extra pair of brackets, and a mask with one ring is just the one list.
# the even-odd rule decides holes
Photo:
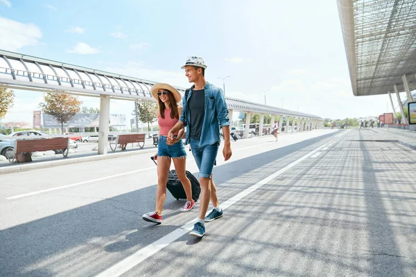
[(415, 89), (416, 1), (338, 0), (341, 28), (355, 96)]

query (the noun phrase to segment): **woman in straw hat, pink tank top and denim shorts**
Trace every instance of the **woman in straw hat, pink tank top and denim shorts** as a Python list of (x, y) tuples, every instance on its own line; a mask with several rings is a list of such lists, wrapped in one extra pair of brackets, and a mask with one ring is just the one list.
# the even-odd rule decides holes
[(156, 211), (146, 213), (143, 219), (148, 222), (162, 223), (162, 208), (166, 198), (166, 183), (168, 181), (169, 168), (171, 161), (177, 173), (177, 178), (184, 186), (187, 194), (187, 203), (180, 210), (181, 212), (191, 211), (195, 202), (192, 199), (191, 182), (186, 175), (187, 152), (182, 143), (184, 129), (180, 129), (175, 134), (173, 142), (166, 142), (170, 129), (177, 123), (182, 114), (182, 107), (178, 106), (181, 96), (179, 91), (169, 84), (155, 84), (150, 92), (159, 104), (157, 111), (157, 122), (159, 123), (159, 144), (157, 145), (157, 191), (156, 191)]

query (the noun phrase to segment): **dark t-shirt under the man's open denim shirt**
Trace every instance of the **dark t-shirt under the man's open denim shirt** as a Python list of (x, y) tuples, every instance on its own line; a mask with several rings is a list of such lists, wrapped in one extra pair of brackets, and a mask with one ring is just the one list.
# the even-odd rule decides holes
[(188, 101), (189, 109), (189, 135), (191, 139), (200, 139), (202, 123), (205, 114), (205, 89), (193, 90)]

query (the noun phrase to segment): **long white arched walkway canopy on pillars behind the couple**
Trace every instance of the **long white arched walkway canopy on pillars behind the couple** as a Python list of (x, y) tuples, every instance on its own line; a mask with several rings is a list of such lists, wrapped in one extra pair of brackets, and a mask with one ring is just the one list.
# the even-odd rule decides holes
[[(0, 50), (0, 87), (100, 98), (98, 154), (106, 154), (107, 152), (106, 140), (102, 138), (108, 136), (109, 124), (105, 118), (110, 116), (110, 99), (154, 102), (155, 99), (150, 94), (150, 87), (155, 83), (140, 78)], [(183, 96), (185, 88), (175, 88)], [(292, 118), (292, 126), (297, 123), (298, 131), (315, 129), (322, 127), (323, 124), (322, 118), (312, 114), (279, 109), (235, 98), (226, 98), (225, 100), (230, 111), (230, 118), (232, 118), (233, 111), (243, 111), (247, 114), (246, 137), (248, 137), (250, 117), (254, 113), (261, 114), (259, 129), (263, 129), (263, 120), (266, 114), (270, 114), (272, 121), (276, 116), (279, 116), (280, 128), (284, 116)], [(288, 128), (285, 129), (287, 132)], [(292, 128), (292, 132), (293, 130), (294, 128)]]

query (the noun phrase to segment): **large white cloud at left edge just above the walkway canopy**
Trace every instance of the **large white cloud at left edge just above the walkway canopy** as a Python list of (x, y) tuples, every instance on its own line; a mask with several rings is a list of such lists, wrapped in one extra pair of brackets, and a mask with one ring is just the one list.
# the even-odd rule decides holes
[(42, 38), (40, 28), (33, 23), (24, 24), (0, 17), (0, 48), (18, 51), (24, 46), (39, 44)]

